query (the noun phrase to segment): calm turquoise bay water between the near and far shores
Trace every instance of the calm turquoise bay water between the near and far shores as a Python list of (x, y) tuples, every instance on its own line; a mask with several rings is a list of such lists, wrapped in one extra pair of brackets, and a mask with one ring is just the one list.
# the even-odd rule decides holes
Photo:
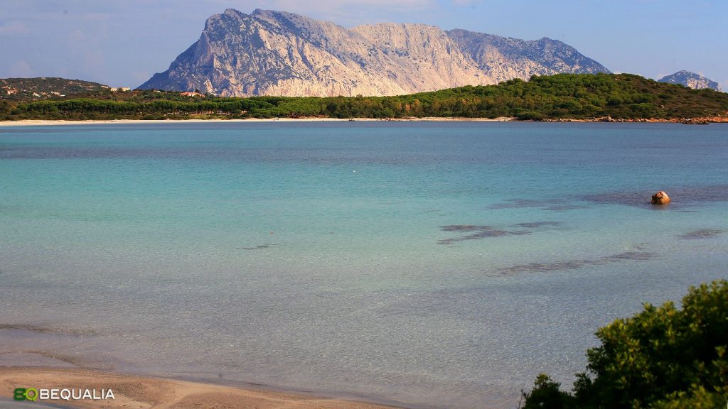
[(0, 127), (0, 353), (513, 408), (728, 278), (727, 202), (721, 124)]

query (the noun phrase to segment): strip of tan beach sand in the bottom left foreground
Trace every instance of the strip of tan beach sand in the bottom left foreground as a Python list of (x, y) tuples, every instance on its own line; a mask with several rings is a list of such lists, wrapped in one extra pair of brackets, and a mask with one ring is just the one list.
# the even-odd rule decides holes
[[(79, 368), (0, 367), (0, 407), (12, 405), (15, 388), (111, 389), (114, 400), (43, 400), (68, 408), (297, 408), (392, 409), (364, 402), (309, 397), (302, 394), (239, 389), (198, 382), (106, 373)], [(28, 402), (31, 403), (31, 402)]]

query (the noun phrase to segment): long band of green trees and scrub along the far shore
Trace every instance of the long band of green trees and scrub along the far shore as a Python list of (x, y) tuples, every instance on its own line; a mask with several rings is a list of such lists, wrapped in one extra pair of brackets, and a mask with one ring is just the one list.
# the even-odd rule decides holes
[(186, 119), (327, 116), (518, 119), (680, 119), (728, 116), (728, 94), (631, 74), (557, 74), (394, 97), (218, 98), (101, 90), (85, 98), (0, 101), (0, 119)]

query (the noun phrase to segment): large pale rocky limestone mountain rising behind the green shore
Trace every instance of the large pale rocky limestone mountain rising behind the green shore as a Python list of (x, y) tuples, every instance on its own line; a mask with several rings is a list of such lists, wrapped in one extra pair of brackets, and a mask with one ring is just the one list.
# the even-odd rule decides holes
[(226, 9), (139, 88), (221, 96), (403, 95), (609, 71), (561, 41), (523, 41), (424, 24), (344, 28), (288, 12)]

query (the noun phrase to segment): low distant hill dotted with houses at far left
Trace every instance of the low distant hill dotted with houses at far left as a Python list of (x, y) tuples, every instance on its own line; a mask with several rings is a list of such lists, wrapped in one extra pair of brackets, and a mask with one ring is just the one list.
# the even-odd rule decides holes
[(0, 79), (1, 100), (44, 100), (108, 89), (80, 79), (54, 77)]

